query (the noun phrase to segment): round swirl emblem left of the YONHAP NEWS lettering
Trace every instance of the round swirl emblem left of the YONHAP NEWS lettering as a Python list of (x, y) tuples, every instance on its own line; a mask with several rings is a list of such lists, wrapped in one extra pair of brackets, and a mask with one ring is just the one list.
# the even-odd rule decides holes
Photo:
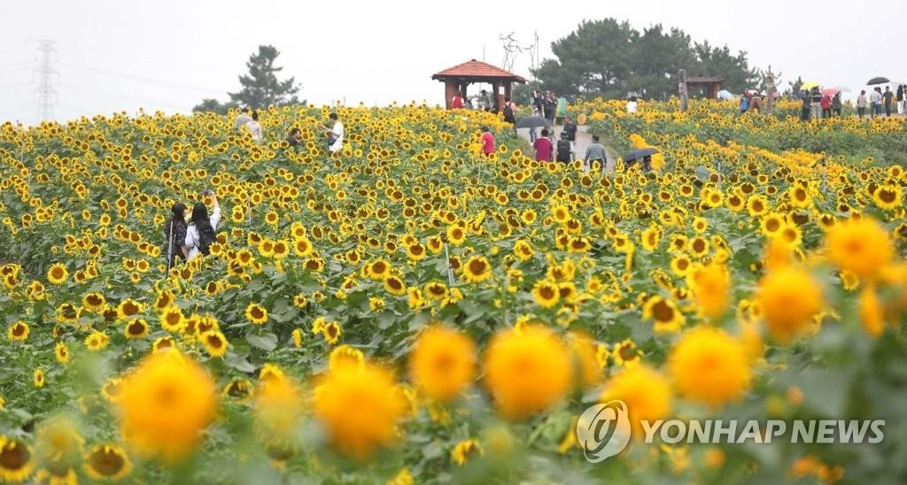
[(576, 422), (576, 438), (590, 463), (599, 463), (623, 451), (629, 444), (627, 403), (595, 404)]

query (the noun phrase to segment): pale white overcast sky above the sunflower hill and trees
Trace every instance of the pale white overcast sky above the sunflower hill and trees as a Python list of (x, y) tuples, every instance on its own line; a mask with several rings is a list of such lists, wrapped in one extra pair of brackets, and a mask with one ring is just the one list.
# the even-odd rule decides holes
[[(202, 98), (226, 101), (259, 44), (278, 48), (278, 64), (296, 76), (300, 98), (309, 102), (441, 103), (443, 84), (431, 75), (472, 58), (500, 65), (502, 34), (532, 44), (537, 33), (546, 58), (551, 42), (583, 19), (605, 17), (640, 31), (677, 26), (695, 41), (746, 51), (751, 65), (781, 73), (779, 88), (802, 75), (848, 86), (855, 96), (876, 75), (907, 81), (907, 64), (896, 55), (902, 14), (895, 3), (838, 0), (806, 11), (778, 0), (5, 1), (0, 120), (37, 120), (38, 39), (55, 41), (54, 118), (63, 121), (139, 107), (189, 112)], [(523, 53), (513, 70), (528, 77), (529, 65)]]

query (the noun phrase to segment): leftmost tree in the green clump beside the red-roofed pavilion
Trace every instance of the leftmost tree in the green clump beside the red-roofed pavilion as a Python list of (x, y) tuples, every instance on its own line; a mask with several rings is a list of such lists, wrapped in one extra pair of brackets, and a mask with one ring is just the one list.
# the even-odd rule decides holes
[(558, 94), (624, 95), (638, 36), (626, 21), (583, 21), (551, 43), (557, 60), (546, 59), (533, 73), (545, 89)]

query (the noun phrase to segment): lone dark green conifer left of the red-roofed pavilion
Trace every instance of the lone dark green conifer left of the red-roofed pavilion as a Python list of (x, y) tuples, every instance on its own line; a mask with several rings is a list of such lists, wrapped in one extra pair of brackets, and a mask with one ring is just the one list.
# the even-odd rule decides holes
[(249, 74), (239, 76), (242, 89), (230, 92), (230, 100), (253, 109), (298, 103), (296, 93), (299, 88), (295, 78), (278, 81), (277, 73), (283, 70), (283, 67), (274, 65), (278, 55), (280, 52), (273, 45), (259, 45), (258, 53), (249, 56), (246, 63)]

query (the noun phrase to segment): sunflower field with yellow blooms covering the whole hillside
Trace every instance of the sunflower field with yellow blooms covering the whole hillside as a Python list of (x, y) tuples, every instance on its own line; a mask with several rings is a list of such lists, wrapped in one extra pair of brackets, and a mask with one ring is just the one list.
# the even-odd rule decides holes
[[(902, 118), (571, 113), (655, 171), (536, 162), (484, 112), (0, 126), (0, 480), (903, 483)], [(481, 126), (497, 150), (481, 155)], [(295, 148), (282, 140), (302, 131)], [(172, 204), (223, 210), (167, 274)], [(632, 440), (590, 463), (580, 414)], [(642, 441), (642, 420), (884, 440)]]

